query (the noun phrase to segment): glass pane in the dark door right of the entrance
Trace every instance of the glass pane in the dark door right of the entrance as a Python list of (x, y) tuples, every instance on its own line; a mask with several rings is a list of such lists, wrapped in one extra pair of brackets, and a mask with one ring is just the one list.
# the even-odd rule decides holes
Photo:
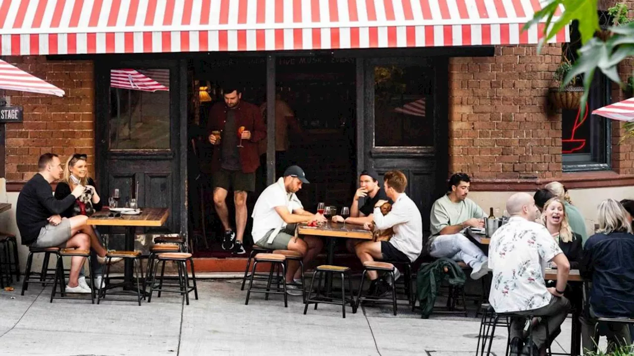
[(429, 67), (374, 67), (375, 147), (434, 146), (433, 81)]

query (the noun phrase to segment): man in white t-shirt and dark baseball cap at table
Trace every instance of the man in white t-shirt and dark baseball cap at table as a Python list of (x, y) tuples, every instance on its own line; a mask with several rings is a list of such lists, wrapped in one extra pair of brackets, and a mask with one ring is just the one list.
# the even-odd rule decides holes
[[(309, 264), (323, 248), (323, 242), (316, 236), (297, 238), (295, 227), (299, 222), (326, 222), (320, 213), (309, 213), (295, 193), (308, 184), (302, 168), (292, 165), (286, 168), (283, 177), (268, 186), (257, 198), (253, 208), (253, 229), (251, 235), (257, 246), (269, 250), (292, 250), (304, 256), (304, 265)], [(299, 264), (288, 264), (286, 272), (287, 293), (301, 295), (304, 281), (301, 280)]]

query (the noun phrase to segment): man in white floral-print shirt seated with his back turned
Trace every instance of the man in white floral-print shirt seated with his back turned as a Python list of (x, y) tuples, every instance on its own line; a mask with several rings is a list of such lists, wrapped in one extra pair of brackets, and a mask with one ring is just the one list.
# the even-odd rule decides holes
[[(491, 236), (489, 245), (489, 268), (493, 270), (489, 303), (497, 313), (541, 317), (532, 340), (523, 338), (526, 318), (513, 318), (510, 328), (510, 355), (539, 355), (566, 319), (570, 302), (564, 291), (570, 264), (546, 227), (534, 222), (539, 210), (532, 196), (513, 194), (507, 212), (510, 219)], [(550, 261), (557, 265), (555, 288), (547, 288), (544, 282), (544, 269)]]

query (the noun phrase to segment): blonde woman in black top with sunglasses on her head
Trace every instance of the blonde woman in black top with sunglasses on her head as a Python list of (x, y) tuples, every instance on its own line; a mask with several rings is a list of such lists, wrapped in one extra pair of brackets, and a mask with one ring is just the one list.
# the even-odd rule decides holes
[[(77, 186), (77, 184), (81, 184), (86, 187), (84, 194), (79, 196), (75, 200), (75, 203), (61, 213), (61, 217), (74, 217), (76, 215), (93, 215), (94, 212), (98, 212), (101, 210), (103, 204), (101, 203), (101, 198), (99, 194), (97, 194), (96, 189), (94, 188), (94, 181), (92, 178), (88, 177), (88, 169), (86, 163), (87, 155), (82, 155), (76, 153), (68, 157), (66, 161), (66, 166), (64, 169), (64, 175), (62, 181), (57, 184), (57, 188), (55, 188), (55, 198), (63, 199), (70, 195), (70, 192)], [(99, 239), (101, 246), (103, 246), (103, 239), (101, 239), (101, 234), (97, 231), (96, 227), (93, 226), (94, 233)], [(103, 265), (100, 264), (97, 260), (97, 253), (94, 248), (91, 248), (91, 258), (90, 262), (93, 267), (94, 273), (94, 284), (96, 288), (99, 288), (101, 285), (101, 276), (103, 275)], [(114, 258), (112, 262), (115, 262)], [(84, 270), (82, 268), (80, 278), (84, 278)]]

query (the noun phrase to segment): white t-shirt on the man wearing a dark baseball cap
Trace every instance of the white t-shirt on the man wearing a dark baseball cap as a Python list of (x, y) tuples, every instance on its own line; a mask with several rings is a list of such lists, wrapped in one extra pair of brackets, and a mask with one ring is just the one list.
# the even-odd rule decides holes
[(267, 232), (286, 226), (280, 214), (275, 211), (276, 207), (287, 207), (290, 213), (304, 208), (295, 193), (286, 191), (283, 177), (264, 189), (257, 198), (256, 206), (251, 214), (253, 218), (251, 236), (253, 236), (254, 242), (260, 241)]

